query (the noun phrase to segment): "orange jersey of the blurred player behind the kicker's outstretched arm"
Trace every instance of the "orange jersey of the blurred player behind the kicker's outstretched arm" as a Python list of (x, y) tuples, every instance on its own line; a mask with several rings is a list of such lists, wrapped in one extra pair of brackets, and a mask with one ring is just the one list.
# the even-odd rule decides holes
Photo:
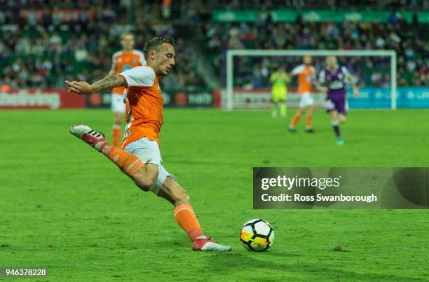
[[(142, 66), (146, 64), (143, 52), (139, 50), (132, 50), (130, 52), (118, 51), (111, 57), (111, 68), (114, 69), (114, 74), (128, 71), (135, 66)], [(123, 94), (124, 87), (116, 87), (113, 92), (115, 94)]]

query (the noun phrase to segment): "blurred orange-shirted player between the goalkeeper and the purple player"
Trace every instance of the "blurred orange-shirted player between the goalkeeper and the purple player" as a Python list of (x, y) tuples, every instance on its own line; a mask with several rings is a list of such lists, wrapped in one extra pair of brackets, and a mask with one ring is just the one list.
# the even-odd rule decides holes
[(304, 56), (303, 62), (304, 64), (300, 64), (292, 70), (292, 76), (298, 76), (299, 110), (290, 122), (289, 131), (296, 132), (295, 127), (301, 119), (301, 115), (307, 110), (306, 132), (312, 133), (311, 119), (314, 112), (314, 99), (311, 96), (311, 83), (315, 78), (315, 69), (311, 66), (310, 56)]

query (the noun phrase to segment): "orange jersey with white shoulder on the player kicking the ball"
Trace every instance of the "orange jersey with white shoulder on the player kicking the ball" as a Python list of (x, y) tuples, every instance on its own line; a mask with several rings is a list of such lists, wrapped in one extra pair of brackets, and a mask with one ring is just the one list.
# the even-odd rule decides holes
[(137, 66), (124, 71), (121, 76), (128, 84), (125, 104), (127, 126), (123, 134), (122, 148), (143, 137), (159, 142), (163, 125), (163, 94), (158, 77), (150, 66)]

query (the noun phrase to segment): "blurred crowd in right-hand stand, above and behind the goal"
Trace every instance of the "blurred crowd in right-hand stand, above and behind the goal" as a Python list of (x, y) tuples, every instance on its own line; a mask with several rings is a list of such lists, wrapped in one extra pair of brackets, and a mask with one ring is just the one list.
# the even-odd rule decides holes
[[(213, 24), (205, 22), (203, 33), (215, 69), (225, 83), (225, 60), (228, 49), (329, 49), (329, 50), (396, 50), (398, 85), (429, 85), (428, 24), (419, 24), (416, 15), (406, 22), (392, 13), (386, 24), (377, 22), (272, 22), (258, 19), (253, 23)], [(390, 83), (390, 58), (341, 57), (341, 64), (355, 73), (361, 86)], [(281, 63), (279, 63), (281, 62)], [(279, 64), (290, 71), (301, 57), (237, 57), (234, 64), (236, 87), (266, 87), (269, 76)], [(324, 58), (314, 57), (318, 71)]]

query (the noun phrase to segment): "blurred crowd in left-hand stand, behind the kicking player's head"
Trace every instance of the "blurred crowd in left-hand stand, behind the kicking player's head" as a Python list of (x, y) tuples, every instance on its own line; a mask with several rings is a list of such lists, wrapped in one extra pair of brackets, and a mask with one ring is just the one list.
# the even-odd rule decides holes
[[(48, 2), (55, 3), (55, 8), (46, 9)], [(153, 36), (176, 37), (176, 64), (180, 67), (173, 68), (165, 84), (202, 83), (193, 71), (188, 44), (175, 36), (172, 24), (137, 19), (127, 25), (121, 5), (126, 1), (111, 2), (0, 0), (0, 85), (46, 88), (64, 87), (66, 79), (100, 80), (111, 68), (111, 55), (121, 50), (119, 36), (124, 31), (135, 34), (139, 50)]]

